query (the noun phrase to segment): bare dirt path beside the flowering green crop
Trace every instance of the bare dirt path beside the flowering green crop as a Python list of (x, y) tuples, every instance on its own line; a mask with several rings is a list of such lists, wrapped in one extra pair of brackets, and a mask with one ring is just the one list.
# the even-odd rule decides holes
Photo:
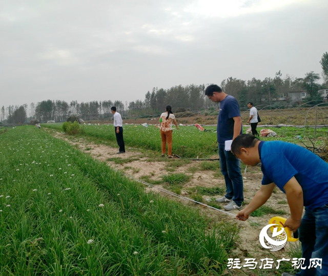
[[(107, 162), (112, 168), (125, 172), (126, 174), (132, 175), (134, 178), (142, 179), (147, 182), (156, 182), (161, 180), (161, 176), (167, 175), (168, 170), (174, 170), (174, 173), (180, 172), (189, 175), (190, 181), (180, 187), (180, 195), (189, 197), (192, 190), (197, 189), (197, 187), (221, 187), (225, 190), (225, 184), (223, 176), (218, 173), (218, 171), (213, 170), (202, 170), (201, 161), (188, 161), (183, 164), (183, 161), (179, 159), (176, 160), (166, 160), (161, 158), (151, 158), (145, 154), (145, 150), (136, 150), (128, 148), (127, 152), (124, 154), (116, 154), (117, 148), (113, 148), (103, 144), (94, 144), (87, 141), (87, 139), (77, 138), (72, 136), (67, 136), (63, 133), (57, 132), (52, 129), (46, 129), (48, 133), (67, 141), (68, 143), (78, 147), (81, 151), (91, 154), (95, 159), (103, 162)], [(159, 153), (152, 152), (153, 155), (159, 155)], [(170, 164), (176, 165), (173, 162), (182, 162), (178, 164), (179, 166), (172, 168)], [(260, 168), (252, 167), (248, 168), (248, 171), (243, 173), (244, 181), (244, 200), (245, 204), (248, 204), (253, 198), (254, 194), (260, 189), (261, 186), (262, 173)], [(167, 184), (158, 184), (156, 187), (161, 187), (168, 189)], [(149, 188), (148, 188), (149, 189)], [(155, 192), (160, 192), (156, 188), (151, 188)], [(172, 196), (160, 192), (163, 196)], [(207, 199), (214, 199), (220, 197), (221, 195), (202, 195), (203, 202), (207, 202)], [(173, 198), (177, 200), (176, 198)], [(179, 200), (179, 199), (178, 199)], [(187, 204), (191, 207), (198, 208), (200, 212), (204, 215), (209, 216), (216, 222), (229, 221), (237, 224), (240, 228), (240, 240), (238, 241), (237, 248), (231, 254), (231, 258), (240, 258), (243, 260), (245, 257), (252, 257), (257, 259), (270, 258), (268, 251), (263, 249), (259, 243), (259, 233), (263, 226), (269, 223), (270, 218), (275, 216), (274, 214), (264, 214), (263, 216), (251, 218), (252, 222), (240, 222), (237, 221), (233, 215), (225, 214), (223, 212), (197, 205), (193, 202), (188, 202), (186, 200), (179, 200), (183, 204)], [(223, 207), (221, 204), (218, 206)], [(272, 207), (275, 210), (283, 210), (286, 213), (280, 216), (288, 218), (290, 212), (288, 204), (286, 202), (285, 195), (278, 189), (275, 189), (269, 201), (265, 206)], [(238, 211), (231, 211), (230, 213), (236, 215)], [(279, 258), (286, 256), (286, 249), (289, 247), (289, 243), (280, 251), (275, 252), (275, 255)]]

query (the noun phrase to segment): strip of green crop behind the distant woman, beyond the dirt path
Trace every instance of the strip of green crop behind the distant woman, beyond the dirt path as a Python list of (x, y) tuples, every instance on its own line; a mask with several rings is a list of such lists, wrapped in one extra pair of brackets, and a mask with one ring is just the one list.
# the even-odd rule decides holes
[[(59, 131), (61, 130), (61, 124), (42, 124), (42, 127), (52, 128)], [(173, 131), (173, 154), (177, 154), (181, 157), (195, 158), (199, 156), (210, 157), (218, 155), (218, 148), (216, 143), (216, 127), (206, 127), (210, 131), (199, 131), (196, 127), (181, 126), (179, 130)], [(243, 133), (246, 131), (246, 127), (243, 128)], [(260, 131), (262, 128), (258, 128)], [(264, 141), (276, 141), (281, 140), (285, 142), (291, 142), (295, 144), (301, 144), (297, 139), (298, 135), (303, 136), (303, 129), (295, 127), (282, 127), (271, 128), (277, 133), (277, 137), (261, 137)], [(306, 129), (306, 136), (310, 137), (326, 137), (326, 128), (317, 129), (317, 134), (314, 135), (314, 129)], [(112, 129), (112, 125), (84, 125), (84, 134), (78, 134), (77, 136), (89, 137), (95, 143), (100, 141), (107, 141), (108, 145), (117, 147), (115, 133)], [(151, 151), (156, 151), (158, 156), (161, 152), (161, 141), (159, 130), (153, 125), (149, 125), (148, 128), (143, 126), (124, 126), (124, 140), (127, 147), (142, 148)], [(306, 139), (302, 139), (305, 143), (310, 143)], [(322, 145), (324, 142), (322, 139), (316, 140), (317, 145)], [(311, 144), (311, 143), (310, 143)], [(242, 167), (243, 169), (243, 167)]]

